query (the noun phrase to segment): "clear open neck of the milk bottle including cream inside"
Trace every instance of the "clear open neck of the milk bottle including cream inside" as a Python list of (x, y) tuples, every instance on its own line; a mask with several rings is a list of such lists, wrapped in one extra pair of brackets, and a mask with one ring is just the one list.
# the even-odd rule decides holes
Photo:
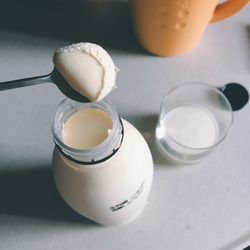
[(65, 99), (57, 108), (52, 133), (67, 158), (77, 163), (95, 164), (119, 149), (123, 126), (108, 101), (79, 103)]

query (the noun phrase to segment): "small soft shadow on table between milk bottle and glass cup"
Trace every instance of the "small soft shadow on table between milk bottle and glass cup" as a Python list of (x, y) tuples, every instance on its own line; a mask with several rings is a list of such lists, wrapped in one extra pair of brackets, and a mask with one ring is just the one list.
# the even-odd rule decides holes
[(155, 128), (158, 121), (158, 115), (140, 115), (140, 116), (128, 116), (126, 119), (131, 122), (143, 135), (147, 141), (151, 150), (153, 161), (158, 166), (164, 167), (177, 167), (180, 165), (165, 159), (160, 153), (155, 142)]

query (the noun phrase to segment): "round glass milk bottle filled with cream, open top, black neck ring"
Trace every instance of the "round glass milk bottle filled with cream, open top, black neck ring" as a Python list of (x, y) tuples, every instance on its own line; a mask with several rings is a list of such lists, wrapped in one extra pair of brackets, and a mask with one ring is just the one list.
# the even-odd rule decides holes
[(53, 176), (65, 202), (103, 225), (134, 220), (153, 178), (148, 145), (107, 101), (64, 100), (54, 116)]

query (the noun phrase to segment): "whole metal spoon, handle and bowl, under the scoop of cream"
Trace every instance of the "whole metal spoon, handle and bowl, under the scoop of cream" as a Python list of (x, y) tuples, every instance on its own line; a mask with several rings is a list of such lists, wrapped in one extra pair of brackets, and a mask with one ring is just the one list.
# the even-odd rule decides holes
[(86, 98), (85, 96), (79, 94), (76, 90), (74, 90), (56, 68), (54, 68), (53, 71), (47, 75), (29, 77), (7, 82), (0, 82), (0, 91), (37, 85), (42, 83), (48, 83), (48, 82), (54, 83), (65, 96), (69, 97), (74, 101), (90, 102), (88, 98)]

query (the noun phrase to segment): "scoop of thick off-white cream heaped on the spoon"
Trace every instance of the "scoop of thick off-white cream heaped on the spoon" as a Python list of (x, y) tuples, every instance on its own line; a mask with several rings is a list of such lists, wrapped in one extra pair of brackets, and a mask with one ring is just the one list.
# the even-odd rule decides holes
[(101, 46), (76, 43), (55, 51), (53, 62), (69, 85), (96, 102), (116, 86), (118, 71), (112, 58)]

